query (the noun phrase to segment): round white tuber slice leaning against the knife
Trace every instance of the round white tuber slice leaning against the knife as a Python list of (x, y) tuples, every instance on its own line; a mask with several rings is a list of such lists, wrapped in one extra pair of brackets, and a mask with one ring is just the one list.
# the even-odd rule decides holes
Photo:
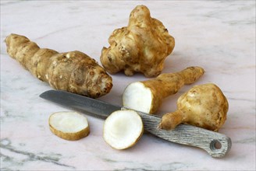
[(143, 122), (134, 110), (117, 110), (105, 120), (103, 138), (112, 148), (130, 148), (142, 134)]

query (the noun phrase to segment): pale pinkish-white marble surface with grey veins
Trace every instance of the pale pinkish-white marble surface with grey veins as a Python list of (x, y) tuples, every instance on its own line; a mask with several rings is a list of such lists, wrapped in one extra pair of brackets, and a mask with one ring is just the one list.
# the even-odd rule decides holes
[[(163, 72), (199, 65), (206, 72), (194, 85), (213, 82), (226, 95), (229, 112), (219, 132), (233, 146), (224, 158), (151, 134), (118, 151), (102, 138), (104, 120), (89, 116), (87, 138), (58, 138), (48, 117), (68, 109), (39, 98), (52, 88), (6, 53), (5, 37), (18, 33), (40, 47), (83, 51), (100, 63), (110, 33), (126, 26), (141, 4), (176, 39)], [(100, 99), (121, 105), (125, 86), (146, 78), (119, 73), (112, 79), (112, 91)], [(165, 99), (159, 113), (176, 110), (176, 100), (194, 85)], [(0, 119), (1, 170), (255, 170), (255, 1), (1, 1)]]

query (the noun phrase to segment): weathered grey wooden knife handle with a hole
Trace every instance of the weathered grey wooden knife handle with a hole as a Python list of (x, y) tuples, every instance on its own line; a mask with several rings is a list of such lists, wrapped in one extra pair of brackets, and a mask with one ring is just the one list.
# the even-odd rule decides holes
[(162, 130), (157, 128), (161, 117), (141, 112), (138, 113), (140, 113), (140, 117), (144, 122), (144, 129), (159, 138), (202, 148), (215, 158), (222, 158), (231, 148), (231, 139), (225, 134), (208, 131), (188, 124), (180, 124), (171, 131)]

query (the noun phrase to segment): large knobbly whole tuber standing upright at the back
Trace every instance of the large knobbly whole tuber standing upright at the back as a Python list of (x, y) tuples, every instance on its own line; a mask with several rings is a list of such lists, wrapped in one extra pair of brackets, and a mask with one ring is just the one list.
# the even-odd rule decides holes
[(107, 72), (141, 72), (154, 77), (162, 72), (175, 40), (158, 19), (151, 18), (146, 6), (138, 5), (130, 13), (128, 26), (114, 30), (108, 43), (101, 51), (101, 64)]

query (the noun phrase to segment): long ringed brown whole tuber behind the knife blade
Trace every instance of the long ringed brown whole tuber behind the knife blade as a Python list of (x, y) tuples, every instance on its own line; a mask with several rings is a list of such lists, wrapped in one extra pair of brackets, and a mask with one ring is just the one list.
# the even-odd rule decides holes
[(13, 33), (6, 37), (5, 43), (9, 56), (54, 89), (92, 98), (103, 96), (112, 89), (112, 78), (87, 54), (40, 48), (27, 37)]

